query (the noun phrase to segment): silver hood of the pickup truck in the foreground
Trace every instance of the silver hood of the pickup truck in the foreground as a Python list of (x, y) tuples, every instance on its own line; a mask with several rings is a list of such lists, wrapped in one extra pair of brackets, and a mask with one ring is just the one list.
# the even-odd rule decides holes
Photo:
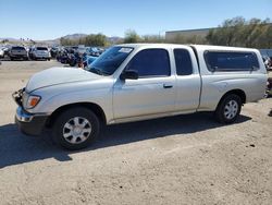
[(41, 87), (78, 81), (98, 80), (102, 76), (77, 68), (51, 68), (34, 74), (26, 85), (26, 92)]

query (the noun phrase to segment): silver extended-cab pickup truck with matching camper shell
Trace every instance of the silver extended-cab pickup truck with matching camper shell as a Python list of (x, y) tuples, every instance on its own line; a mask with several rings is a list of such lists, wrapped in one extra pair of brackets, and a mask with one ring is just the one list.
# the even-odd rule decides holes
[(14, 93), (24, 133), (49, 128), (63, 147), (92, 143), (102, 124), (196, 111), (232, 123), (242, 105), (264, 96), (267, 70), (258, 50), (165, 44), (119, 45), (88, 70), (52, 68)]

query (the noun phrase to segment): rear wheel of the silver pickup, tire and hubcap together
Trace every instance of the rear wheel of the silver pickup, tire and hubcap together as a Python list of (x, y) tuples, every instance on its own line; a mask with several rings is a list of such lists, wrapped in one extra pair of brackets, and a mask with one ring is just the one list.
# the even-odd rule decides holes
[(235, 94), (225, 96), (218, 105), (215, 118), (221, 123), (233, 123), (240, 113), (242, 99)]

